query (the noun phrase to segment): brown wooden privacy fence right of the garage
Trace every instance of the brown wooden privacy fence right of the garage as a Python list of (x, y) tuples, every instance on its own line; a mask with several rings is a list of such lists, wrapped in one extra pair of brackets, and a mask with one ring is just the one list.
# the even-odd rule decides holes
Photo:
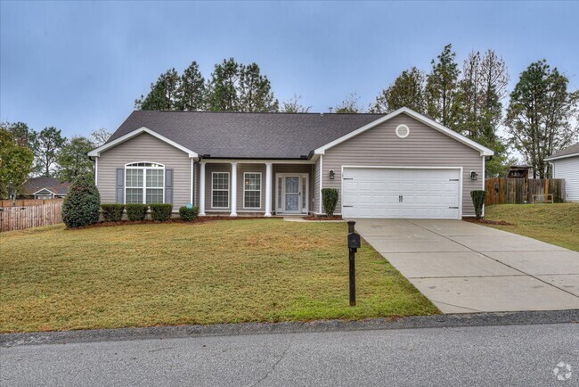
[(565, 202), (565, 179), (525, 179), (493, 177), (485, 180), (485, 205), (523, 204), (525, 202)]

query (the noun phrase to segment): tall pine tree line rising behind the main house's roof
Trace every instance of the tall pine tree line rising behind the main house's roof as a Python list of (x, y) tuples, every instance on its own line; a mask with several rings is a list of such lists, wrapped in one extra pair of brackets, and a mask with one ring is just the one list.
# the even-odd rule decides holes
[[(492, 149), (495, 155), (486, 163), (486, 176), (504, 176), (516, 162), (509, 151), (516, 150), (533, 168), (534, 177), (546, 177), (550, 169), (544, 159), (577, 139), (579, 91), (567, 90), (568, 78), (545, 60), (533, 62), (521, 72), (510, 93), (509, 82), (507, 65), (493, 50), (472, 51), (460, 65), (453, 46), (446, 45), (430, 62), (428, 72), (418, 67), (402, 71), (367, 109), (353, 93), (329, 110), (386, 114), (405, 106)], [(181, 75), (175, 69), (167, 70), (151, 84), (148, 95), (135, 100), (135, 108), (310, 111), (311, 106), (300, 100), (300, 95), (293, 95), (279, 103), (257, 63), (245, 65), (230, 58), (217, 63), (207, 79), (197, 62)], [(499, 136), (500, 128), (507, 136)]]

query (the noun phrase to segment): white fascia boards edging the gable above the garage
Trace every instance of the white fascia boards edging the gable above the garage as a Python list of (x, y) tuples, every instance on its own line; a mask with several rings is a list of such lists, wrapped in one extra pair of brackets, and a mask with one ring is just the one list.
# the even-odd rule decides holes
[(347, 141), (352, 137), (358, 136), (359, 134), (365, 132), (366, 130), (374, 128), (377, 125), (379, 125), (383, 122), (386, 122), (388, 119), (393, 119), (402, 113), (406, 113), (409, 116), (411, 116), (413, 119), (417, 119), (420, 122), (422, 122), (423, 124), (428, 125), (428, 127), (434, 128), (434, 129), (438, 130), (439, 132), (444, 133), (447, 136), (453, 137), (455, 140), (461, 142), (462, 144), (466, 144), (469, 147), (476, 149), (477, 151), (480, 152), (481, 156), (493, 156), (493, 154), (494, 154), (493, 151), (486, 148), (485, 146), (478, 144), (478, 143), (472, 141), (471, 139), (469, 139), (465, 136), (462, 136), (459, 133), (456, 133), (452, 129), (443, 127), (435, 120), (428, 119), (428, 117), (425, 117), (422, 114), (417, 113), (416, 111), (412, 111), (408, 108), (400, 108), (397, 111), (392, 111), (391, 113), (385, 115), (384, 117), (380, 117), (379, 119), (376, 119), (375, 121), (372, 121), (371, 123), (364, 125), (362, 128), (355, 129), (355, 131), (350, 132), (347, 135), (341, 136), (341, 137), (337, 138), (336, 140), (332, 141), (331, 143), (325, 144), (325, 145), (321, 146), (320, 148), (316, 149), (314, 151), (314, 154), (324, 154), (328, 149), (330, 149), (338, 144), (341, 144), (344, 141)]

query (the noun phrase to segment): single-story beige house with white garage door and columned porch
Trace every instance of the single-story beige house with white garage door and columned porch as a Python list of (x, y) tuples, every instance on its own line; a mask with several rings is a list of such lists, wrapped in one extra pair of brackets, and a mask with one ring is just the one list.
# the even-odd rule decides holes
[(101, 200), (193, 202), (200, 215), (474, 216), (493, 152), (403, 108), (390, 114), (134, 111), (94, 158)]

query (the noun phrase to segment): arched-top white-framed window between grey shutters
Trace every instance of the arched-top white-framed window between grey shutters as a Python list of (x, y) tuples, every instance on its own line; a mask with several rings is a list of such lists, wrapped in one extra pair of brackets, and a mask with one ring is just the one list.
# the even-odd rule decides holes
[(165, 198), (165, 166), (149, 161), (125, 165), (125, 204), (162, 203)]

